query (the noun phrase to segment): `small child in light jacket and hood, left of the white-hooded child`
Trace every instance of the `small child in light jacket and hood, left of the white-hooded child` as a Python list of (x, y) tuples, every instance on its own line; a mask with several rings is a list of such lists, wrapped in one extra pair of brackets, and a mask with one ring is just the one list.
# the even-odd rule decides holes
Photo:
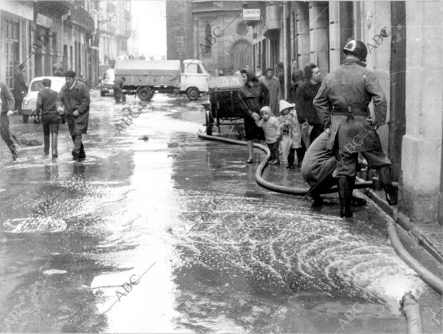
[(258, 116), (255, 118), (255, 123), (259, 128), (263, 128), (264, 138), (268, 144), (269, 151), (271, 151), (271, 158), (269, 165), (278, 165), (280, 163), (279, 157), (279, 143), (280, 143), (280, 123), (277, 117), (272, 114), (269, 106), (264, 106), (260, 109), (259, 120)]

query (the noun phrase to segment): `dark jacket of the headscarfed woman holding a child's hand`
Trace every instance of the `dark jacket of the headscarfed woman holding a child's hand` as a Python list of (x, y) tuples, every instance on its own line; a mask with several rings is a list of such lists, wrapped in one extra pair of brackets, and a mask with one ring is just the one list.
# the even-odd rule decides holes
[(244, 85), (239, 89), (239, 98), (244, 116), (251, 116), (253, 112), (260, 114), (263, 106), (269, 106), (269, 91), (264, 83), (258, 82), (254, 86)]

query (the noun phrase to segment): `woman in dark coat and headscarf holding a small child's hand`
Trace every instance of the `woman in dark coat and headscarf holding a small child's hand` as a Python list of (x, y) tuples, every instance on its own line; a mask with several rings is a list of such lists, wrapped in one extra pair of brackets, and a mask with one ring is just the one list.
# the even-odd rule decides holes
[(264, 139), (262, 128), (259, 128), (254, 118), (259, 118), (260, 109), (269, 106), (269, 91), (251, 70), (241, 72), (244, 86), (239, 89), (239, 98), (244, 111), (244, 132), (248, 146), (247, 163), (252, 163), (252, 148), (254, 139)]

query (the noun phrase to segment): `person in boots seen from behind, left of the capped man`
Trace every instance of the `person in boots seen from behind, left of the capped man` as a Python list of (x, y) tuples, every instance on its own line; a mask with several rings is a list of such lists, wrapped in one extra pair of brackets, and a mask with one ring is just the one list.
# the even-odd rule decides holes
[[(41, 113), (44, 155), (49, 155), (49, 139), (51, 139), (52, 158), (57, 158), (59, 156), (59, 153), (57, 152), (57, 137), (59, 136), (59, 123), (61, 117), (56, 108), (57, 96), (58, 93), (51, 89), (51, 80), (43, 79), (43, 89), (39, 91), (39, 94), (37, 95), (36, 114), (37, 116), (40, 116)], [(51, 138), (49, 138), (49, 135), (51, 135)]]

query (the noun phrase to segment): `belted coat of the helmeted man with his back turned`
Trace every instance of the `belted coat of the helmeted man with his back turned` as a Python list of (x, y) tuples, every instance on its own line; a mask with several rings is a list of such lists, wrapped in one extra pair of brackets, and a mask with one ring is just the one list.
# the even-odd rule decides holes
[[(331, 124), (331, 136), (327, 149), (334, 147), (338, 133), (339, 151), (354, 153), (382, 151), (380, 138), (374, 126), (367, 121), (369, 110), (364, 116), (334, 116), (333, 107), (347, 110), (367, 108), (374, 103), (375, 122), (382, 125), (386, 118), (387, 101), (377, 77), (357, 60), (347, 59), (334, 72), (328, 74), (314, 98), (314, 107), (325, 127)], [(349, 151), (351, 150), (351, 151)]]

